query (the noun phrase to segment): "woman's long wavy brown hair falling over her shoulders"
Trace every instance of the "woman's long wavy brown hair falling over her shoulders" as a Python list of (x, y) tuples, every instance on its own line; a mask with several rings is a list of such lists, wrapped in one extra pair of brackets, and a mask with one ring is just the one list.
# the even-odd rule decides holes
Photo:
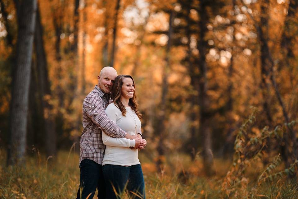
[[(112, 99), (114, 104), (121, 110), (122, 115), (126, 115), (126, 109), (125, 106), (121, 103), (121, 89), (123, 85), (123, 79), (124, 78), (130, 78), (133, 80), (133, 77), (130, 75), (118, 75), (114, 80), (114, 85), (112, 87)], [(134, 80), (133, 80), (133, 85)], [(129, 99), (128, 105), (134, 110), (134, 112), (137, 114), (138, 118), (142, 118), (142, 114), (138, 110), (138, 103), (137, 103), (137, 96), (136, 96), (136, 88), (134, 88), (133, 97)]]

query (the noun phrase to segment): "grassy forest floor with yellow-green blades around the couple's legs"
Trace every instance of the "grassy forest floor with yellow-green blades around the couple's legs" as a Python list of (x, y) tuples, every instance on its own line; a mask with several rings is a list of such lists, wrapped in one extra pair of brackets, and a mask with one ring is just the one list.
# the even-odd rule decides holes
[[(0, 198), (75, 198), (79, 186), (79, 156), (60, 151), (57, 161), (38, 152), (19, 167), (6, 167), (6, 154), (0, 154)], [(207, 178), (201, 160), (191, 161), (187, 155), (172, 155), (169, 164), (157, 173), (155, 164), (140, 152), (146, 183), (146, 198), (298, 198), (298, 184), (286, 176), (258, 183), (264, 170), (257, 161), (249, 165), (240, 181), (229, 175), (232, 160), (214, 160), (215, 174)], [(171, 167), (169, 165), (172, 165)], [(173, 166), (174, 165), (174, 166)], [(282, 165), (278, 166), (283, 169)], [(231, 180), (232, 178), (234, 183)], [(96, 197), (95, 194), (94, 198)], [(123, 198), (128, 198), (125, 194)]]

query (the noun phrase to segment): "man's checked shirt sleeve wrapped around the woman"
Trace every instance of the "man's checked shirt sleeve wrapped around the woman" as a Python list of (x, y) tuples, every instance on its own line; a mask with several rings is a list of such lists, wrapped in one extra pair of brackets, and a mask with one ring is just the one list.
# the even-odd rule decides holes
[(107, 135), (111, 137), (124, 138), (126, 136), (126, 132), (108, 118), (102, 103), (102, 99), (98, 99), (94, 95), (87, 96), (84, 99), (83, 110)]

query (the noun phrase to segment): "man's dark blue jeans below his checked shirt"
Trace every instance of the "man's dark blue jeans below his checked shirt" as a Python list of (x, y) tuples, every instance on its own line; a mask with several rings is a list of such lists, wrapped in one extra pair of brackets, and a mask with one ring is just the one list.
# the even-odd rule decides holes
[[(77, 199), (93, 198), (96, 188), (98, 191), (97, 197), (100, 199), (105, 198), (105, 180), (102, 175), (102, 165), (94, 162), (93, 160), (84, 159), (80, 163), (80, 187), (77, 194)], [(83, 189), (82, 189), (83, 188)], [(82, 189), (82, 197), (80, 193)]]

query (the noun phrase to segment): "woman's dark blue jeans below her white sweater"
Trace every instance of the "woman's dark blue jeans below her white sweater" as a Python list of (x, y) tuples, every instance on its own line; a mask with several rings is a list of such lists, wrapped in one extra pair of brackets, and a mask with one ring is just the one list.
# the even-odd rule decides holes
[(105, 164), (102, 171), (106, 182), (106, 199), (122, 198), (124, 191), (130, 198), (145, 199), (145, 182), (140, 164), (129, 167)]

